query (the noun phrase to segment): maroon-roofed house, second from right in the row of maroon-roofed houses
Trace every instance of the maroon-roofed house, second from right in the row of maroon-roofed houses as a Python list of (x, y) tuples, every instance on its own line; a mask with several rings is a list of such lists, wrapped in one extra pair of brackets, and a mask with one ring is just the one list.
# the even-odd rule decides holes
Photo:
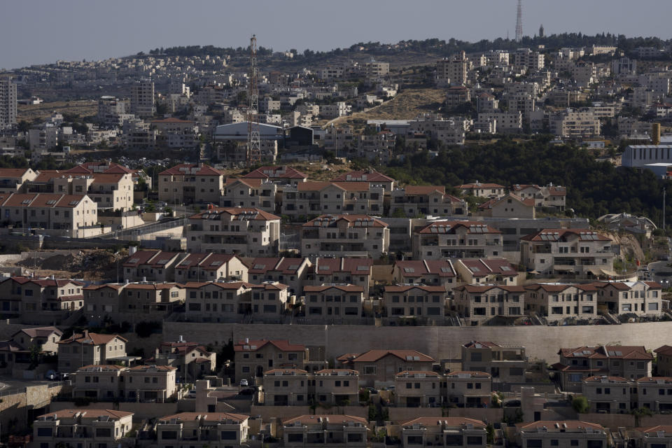
[(398, 283), (443, 286), (451, 295), (458, 282), (451, 260), (401, 260), (392, 267), (394, 280)]

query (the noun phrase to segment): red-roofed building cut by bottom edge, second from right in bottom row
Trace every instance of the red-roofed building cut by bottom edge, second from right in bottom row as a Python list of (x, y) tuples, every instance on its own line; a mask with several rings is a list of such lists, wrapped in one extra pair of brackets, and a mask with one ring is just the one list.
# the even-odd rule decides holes
[(540, 448), (606, 448), (610, 438), (603, 426), (579, 420), (517, 423), (515, 437), (519, 447)]

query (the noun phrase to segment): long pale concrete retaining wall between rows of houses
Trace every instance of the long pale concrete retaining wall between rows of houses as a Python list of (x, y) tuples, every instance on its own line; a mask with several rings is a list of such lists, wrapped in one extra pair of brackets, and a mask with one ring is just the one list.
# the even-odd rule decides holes
[[(372, 325), (272, 325), (239, 323), (164, 322), (163, 338), (225, 344), (235, 340), (290, 339), (324, 346), (328, 358), (368, 349), (416, 349), (441, 358), (460, 356), (461, 344), (472, 340), (523, 345), (530, 358), (554, 363), (558, 349), (586, 344), (644, 345), (647, 349), (669, 344), (672, 322), (581, 326), (481, 326), (481, 327), (374, 327)], [(534, 342), (531, 344), (531, 342)]]

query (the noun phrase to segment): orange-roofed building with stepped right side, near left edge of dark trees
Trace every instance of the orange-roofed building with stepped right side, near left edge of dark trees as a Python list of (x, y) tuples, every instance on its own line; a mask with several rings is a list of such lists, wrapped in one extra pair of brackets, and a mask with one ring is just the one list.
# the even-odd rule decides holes
[(467, 216), (464, 200), (448, 195), (444, 186), (405, 186), (391, 193), (390, 215), (403, 213), (409, 218), (418, 215)]

